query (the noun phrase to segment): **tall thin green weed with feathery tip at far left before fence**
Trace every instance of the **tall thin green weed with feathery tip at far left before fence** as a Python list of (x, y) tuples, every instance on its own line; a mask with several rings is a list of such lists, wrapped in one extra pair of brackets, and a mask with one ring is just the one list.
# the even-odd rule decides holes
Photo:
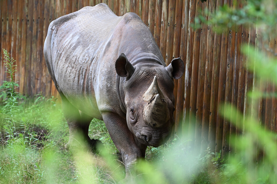
[[(8, 77), (10, 77), (10, 81), (6, 84), (5, 88), (7, 90), (6, 92), (6, 102), (4, 105), (4, 112), (8, 115), (11, 116), (11, 118), (13, 119), (13, 116), (15, 114), (16, 111), (18, 111), (18, 101), (17, 101), (17, 92), (15, 92), (15, 88), (18, 87), (17, 82), (15, 82), (14, 76), (15, 76), (15, 72), (16, 72), (16, 66), (14, 64), (15, 59), (13, 59), (13, 57), (10, 57), (10, 53), (7, 52), (7, 50), (3, 49), (3, 53), (4, 53), (4, 64), (5, 67), (7, 68), (7, 72), (8, 73)], [(8, 89), (7, 89), (8, 88)]]

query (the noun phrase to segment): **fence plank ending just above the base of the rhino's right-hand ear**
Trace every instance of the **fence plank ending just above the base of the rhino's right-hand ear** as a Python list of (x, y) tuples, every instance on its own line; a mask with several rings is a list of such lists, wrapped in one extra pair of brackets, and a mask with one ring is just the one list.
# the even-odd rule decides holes
[(173, 57), (173, 39), (174, 39), (174, 23), (175, 23), (176, 0), (169, 1), (168, 18), (167, 18), (167, 40), (165, 64), (169, 65)]

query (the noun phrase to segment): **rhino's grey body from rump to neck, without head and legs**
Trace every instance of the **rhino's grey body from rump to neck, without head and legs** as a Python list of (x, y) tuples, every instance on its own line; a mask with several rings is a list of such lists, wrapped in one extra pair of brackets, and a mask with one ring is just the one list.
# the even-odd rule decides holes
[(58, 91), (77, 109), (98, 119), (100, 111), (124, 115), (114, 67), (121, 53), (133, 64), (143, 57), (165, 66), (140, 17), (134, 13), (118, 17), (103, 3), (52, 21), (44, 46), (46, 64)]

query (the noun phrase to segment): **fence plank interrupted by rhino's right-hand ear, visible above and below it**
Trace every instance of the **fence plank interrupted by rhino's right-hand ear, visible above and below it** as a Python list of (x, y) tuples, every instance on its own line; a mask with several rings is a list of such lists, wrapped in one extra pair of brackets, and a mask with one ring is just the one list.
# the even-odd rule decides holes
[[(181, 38), (180, 38), (180, 57), (183, 62), (186, 62), (186, 47), (188, 36), (188, 8), (189, 2), (182, 1), (182, 18), (181, 18)], [(185, 64), (185, 63), (184, 63)], [(175, 116), (175, 132), (181, 137), (183, 130), (183, 118), (184, 118), (184, 89), (185, 89), (185, 73), (178, 80), (177, 83), (177, 98), (176, 98), (176, 116)], [(175, 83), (176, 85), (176, 83)], [(184, 128), (186, 128), (184, 126)]]

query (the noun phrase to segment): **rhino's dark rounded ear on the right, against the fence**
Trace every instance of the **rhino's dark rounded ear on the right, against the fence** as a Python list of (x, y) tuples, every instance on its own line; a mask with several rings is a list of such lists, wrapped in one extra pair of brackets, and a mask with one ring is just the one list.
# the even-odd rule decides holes
[(182, 59), (176, 58), (171, 61), (171, 63), (165, 67), (167, 73), (172, 76), (174, 79), (179, 79), (182, 77), (185, 71), (185, 65)]

